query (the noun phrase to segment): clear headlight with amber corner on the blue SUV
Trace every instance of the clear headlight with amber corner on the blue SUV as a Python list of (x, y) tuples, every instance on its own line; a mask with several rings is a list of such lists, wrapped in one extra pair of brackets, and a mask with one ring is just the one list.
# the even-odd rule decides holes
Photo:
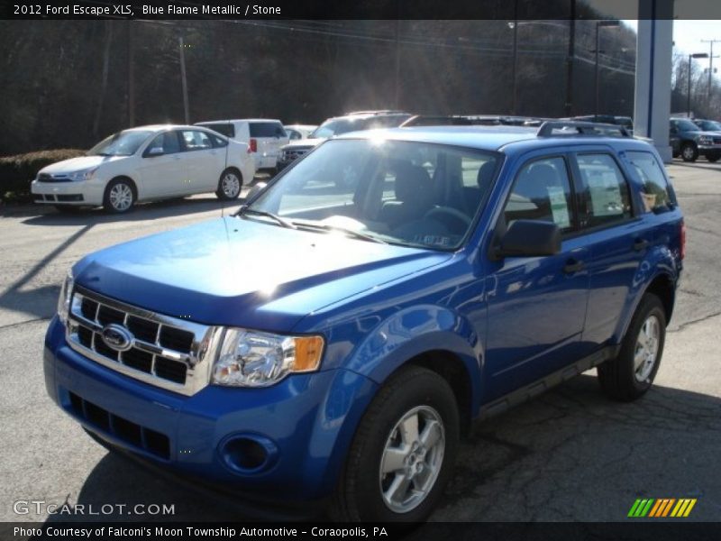
[(233, 387), (268, 387), (289, 373), (316, 371), (321, 336), (283, 336), (227, 329), (213, 368), (213, 383)]

